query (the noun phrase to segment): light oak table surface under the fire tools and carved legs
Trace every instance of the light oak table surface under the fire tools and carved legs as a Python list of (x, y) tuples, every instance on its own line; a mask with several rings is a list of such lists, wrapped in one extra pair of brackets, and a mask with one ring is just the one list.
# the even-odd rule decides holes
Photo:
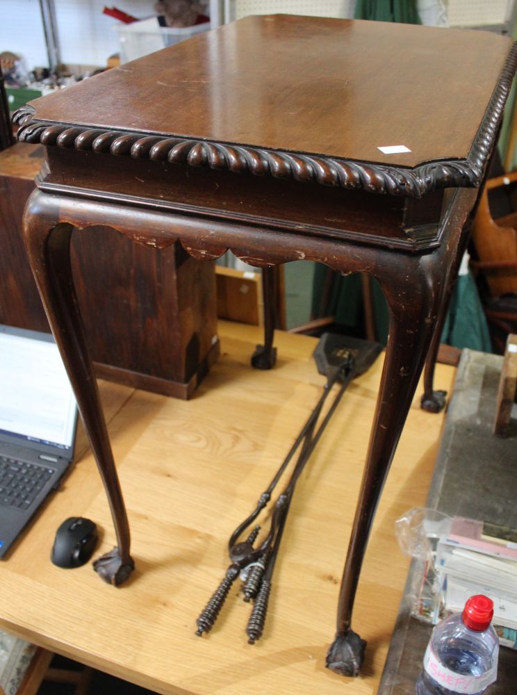
[[(354, 626), (368, 641), (356, 680), (325, 669), (340, 573), (356, 507), (384, 354), (349, 387), (299, 480), (273, 577), (262, 639), (247, 644), (249, 605), (233, 585), (215, 628), (195, 619), (224, 575), (227, 540), (249, 514), (321, 393), (315, 338), (279, 332), (277, 367), (249, 367), (261, 330), (220, 325), (222, 354), (190, 401), (100, 382), (136, 571), (123, 587), (90, 564), (49, 560), (68, 516), (101, 530), (94, 557), (115, 537), (82, 431), (72, 473), (0, 566), (0, 626), (159, 693), (370, 695), (386, 659), (409, 561), (393, 523), (425, 503), (443, 414), (411, 407), (368, 544)], [(450, 393), (452, 367), (436, 387)]]

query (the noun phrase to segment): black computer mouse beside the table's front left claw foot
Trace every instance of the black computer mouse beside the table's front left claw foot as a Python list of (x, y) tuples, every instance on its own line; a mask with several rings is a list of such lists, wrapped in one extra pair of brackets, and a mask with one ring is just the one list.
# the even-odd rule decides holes
[(97, 526), (93, 521), (71, 516), (56, 531), (51, 560), (65, 569), (80, 567), (92, 557), (98, 539)]

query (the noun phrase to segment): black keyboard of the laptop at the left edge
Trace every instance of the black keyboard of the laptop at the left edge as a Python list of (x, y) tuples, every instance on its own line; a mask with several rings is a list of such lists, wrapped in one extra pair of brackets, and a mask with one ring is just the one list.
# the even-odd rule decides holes
[(0, 505), (29, 509), (54, 473), (56, 469), (50, 466), (26, 464), (0, 456)]

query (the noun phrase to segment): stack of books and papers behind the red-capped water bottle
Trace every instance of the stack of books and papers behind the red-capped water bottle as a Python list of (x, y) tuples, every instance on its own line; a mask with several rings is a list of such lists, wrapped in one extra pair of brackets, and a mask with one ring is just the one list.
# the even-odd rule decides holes
[(455, 516), (436, 545), (440, 615), (457, 613), (469, 596), (493, 600), (500, 643), (517, 648), (517, 531)]

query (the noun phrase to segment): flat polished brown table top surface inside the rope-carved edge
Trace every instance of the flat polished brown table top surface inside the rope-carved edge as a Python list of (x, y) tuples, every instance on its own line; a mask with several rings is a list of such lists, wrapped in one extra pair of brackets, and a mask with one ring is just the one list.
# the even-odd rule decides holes
[(466, 158), (510, 48), (488, 32), (252, 16), (31, 104), (38, 120), (412, 167)]

